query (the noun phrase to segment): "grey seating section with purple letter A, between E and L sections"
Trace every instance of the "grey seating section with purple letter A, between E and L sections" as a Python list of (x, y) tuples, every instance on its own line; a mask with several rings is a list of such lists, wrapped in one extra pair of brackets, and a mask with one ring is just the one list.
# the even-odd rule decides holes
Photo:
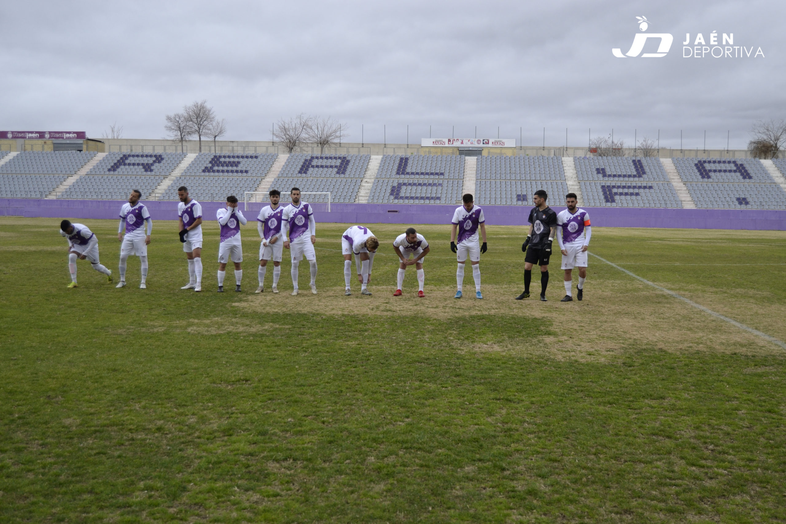
[[(297, 187), (301, 192), (330, 192), (332, 202), (354, 202), (370, 158), (369, 155), (292, 154), (270, 189), (288, 192)], [(327, 202), (328, 198), (313, 195), (304, 200), (319, 203)]]

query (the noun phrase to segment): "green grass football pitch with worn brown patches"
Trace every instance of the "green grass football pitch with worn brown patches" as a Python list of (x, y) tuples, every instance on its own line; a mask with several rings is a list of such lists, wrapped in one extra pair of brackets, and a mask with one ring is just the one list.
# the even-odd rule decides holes
[[(116, 271), (117, 222), (84, 222)], [(127, 288), (79, 261), (67, 289), (58, 223), (0, 218), (2, 522), (786, 520), (784, 350), (597, 258), (583, 302), (558, 264), (516, 302), (523, 228), (489, 226), (486, 298), (455, 300), (450, 227), (423, 225), (426, 298), (413, 268), (394, 298), (404, 226), (372, 225), (374, 295), (344, 297), (347, 225), (319, 224), (319, 295), (288, 295), (288, 260), (253, 295), (247, 227), (221, 295), (208, 222), (193, 293), (156, 222), (148, 289), (134, 257)], [(784, 232), (595, 228), (590, 251), (786, 339)]]

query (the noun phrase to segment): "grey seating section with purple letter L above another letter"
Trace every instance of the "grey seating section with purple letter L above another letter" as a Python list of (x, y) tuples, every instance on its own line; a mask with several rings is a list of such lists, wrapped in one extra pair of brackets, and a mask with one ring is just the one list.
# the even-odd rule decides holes
[(384, 155), (369, 203), (457, 203), (463, 185), (463, 156)]

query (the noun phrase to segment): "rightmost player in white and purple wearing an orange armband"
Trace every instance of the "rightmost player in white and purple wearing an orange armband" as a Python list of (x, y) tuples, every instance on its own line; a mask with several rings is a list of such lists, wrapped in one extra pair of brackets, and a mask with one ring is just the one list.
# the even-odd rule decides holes
[(576, 298), (584, 298), (584, 280), (587, 277), (587, 250), (592, 228), (589, 226), (589, 214), (576, 205), (578, 199), (573, 192), (565, 195), (567, 209), (556, 215), (556, 240), (560, 242), (562, 251), (562, 269), (565, 270), (565, 297), (560, 302), (573, 302), (571, 285), (573, 284), (573, 268), (578, 267), (578, 293)]

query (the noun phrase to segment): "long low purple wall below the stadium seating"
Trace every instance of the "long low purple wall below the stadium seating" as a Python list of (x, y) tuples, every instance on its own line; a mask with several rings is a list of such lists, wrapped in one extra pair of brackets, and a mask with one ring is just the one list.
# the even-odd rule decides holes
[[(46, 218), (112, 218), (123, 200), (0, 199), (0, 216)], [(176, 200), (144, 201), (153, 220), (177, 220)], [(204, 216), (214, 216), (224, 202), (200, 202)], [(242, 204), (241, 204), (242, 205)], [(266, 203), (249, 203), (259, 213)], [(444, 224), (450, 226), (456, 205), (311, 203), (317, 222), (340, 224)], [(526, 225), (528, 206), (483, 206), (487, 225)], [(553, 207), (562, 211), (564, 207)], [(657, 227), (695, 229), (761, 229), (786, 231), (786, 210), (663, 209), (656, 207), (584, 207), (596, 227)], [(448, 229), (450, 232), (450, 229)]]

